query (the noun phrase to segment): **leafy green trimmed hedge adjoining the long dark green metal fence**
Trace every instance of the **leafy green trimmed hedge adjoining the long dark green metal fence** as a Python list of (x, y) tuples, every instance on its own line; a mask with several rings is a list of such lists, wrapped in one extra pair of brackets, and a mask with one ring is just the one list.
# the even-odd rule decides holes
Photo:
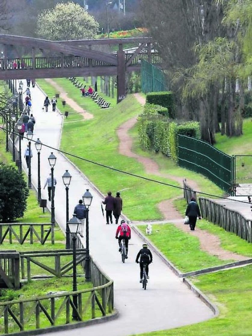
[(138, 136), (140, 147), (161, 151), (178, 162), (178, 134), (200, 139), (200, 125), (196, 121), (178, 122), (158, 114), (146, 104), (144, 113), (138, 117)]

